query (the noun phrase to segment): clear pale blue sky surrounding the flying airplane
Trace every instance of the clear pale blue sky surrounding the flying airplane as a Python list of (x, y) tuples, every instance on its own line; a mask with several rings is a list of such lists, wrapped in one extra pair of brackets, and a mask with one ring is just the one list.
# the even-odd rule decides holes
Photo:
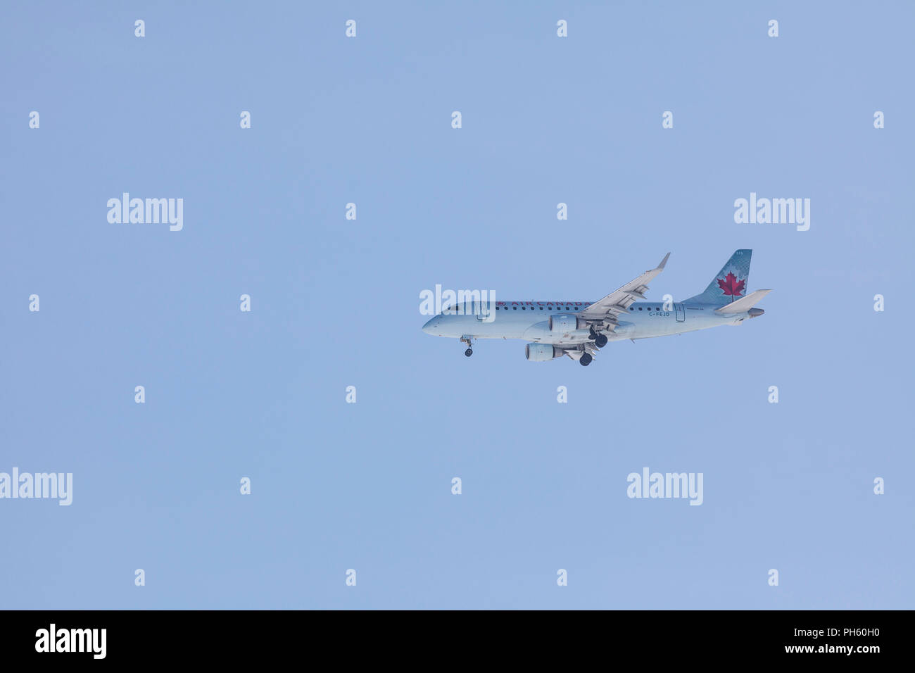
[[(913, 15), (5, 5), (0, 472), (74, 493), (0, 500), (2, 605), (911, 608)], [(593, 300), (671, 251), (683, 298), (737, 248), (765, 316), (587, 368), (420, 329), (436, 284)]]

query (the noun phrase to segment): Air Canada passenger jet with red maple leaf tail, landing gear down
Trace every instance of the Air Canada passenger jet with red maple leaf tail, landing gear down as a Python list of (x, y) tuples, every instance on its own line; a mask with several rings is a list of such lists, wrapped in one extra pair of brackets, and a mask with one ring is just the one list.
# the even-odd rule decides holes
[[(765, 311), (755, 308), (771, 292), (747, 294), (752, 250), (737, 250), (705, 290), (683, 301), (649, 301), (648, 284), (661, 264), (599, 301), (479, 301), (454, 303), (423, 326), (426, 334), (459, 338), (473, 354), (478, 339), (523, 339), (524, 355), (540, 363), (567, 355), (587, 366), (608, 342), (682, 334), (739, 325)], [(495, 304), (493, 306), (493, 303)]]

